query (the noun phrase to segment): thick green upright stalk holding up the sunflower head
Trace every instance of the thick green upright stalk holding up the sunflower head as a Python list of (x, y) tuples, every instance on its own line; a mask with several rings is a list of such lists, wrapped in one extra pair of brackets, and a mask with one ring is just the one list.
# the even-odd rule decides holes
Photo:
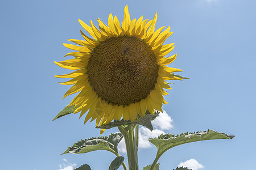
[[(123, 138), (125, 138), (125, 146), (127, 151), (127, 159), (130, 170), (138, 170), (138, 135), (137, 132), (134, 134), (134, 129), (137, 128), (138, 125), (122, 125), (118, 126), (119, 131), (123, 134)], [(138, 130), (136, 130), (138, 131)]]

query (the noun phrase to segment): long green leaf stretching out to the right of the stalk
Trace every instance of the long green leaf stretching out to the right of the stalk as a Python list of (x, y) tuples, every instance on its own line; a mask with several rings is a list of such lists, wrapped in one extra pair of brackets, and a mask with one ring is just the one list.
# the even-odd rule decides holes
[(161, 134), (157, 138), (150, 138), (150, 141), (153, 145), (158, 148), (156, 158), (159, 158), (164, 152), (169, 150), (172, 147), (182, 145), (184, 143), (196, 142), (196, 141), (205, 141), (212, 139), (232, 139), (233, 135), (226, 135), (225, 133), (218, 133), (217, 131), (208, 130), (200, 131), (194, 133), (181, 133), (180, 135), (173, 134)]

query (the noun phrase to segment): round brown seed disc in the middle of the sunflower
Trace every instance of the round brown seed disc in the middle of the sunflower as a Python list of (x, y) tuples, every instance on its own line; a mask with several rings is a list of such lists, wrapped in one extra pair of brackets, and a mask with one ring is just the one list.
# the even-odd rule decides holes
[(146, 98), (155, 87), (155, 54), (136, 37), (112, 37), (93, 49), (88, 63), (89, 82), (98, 96), (115, 105)]

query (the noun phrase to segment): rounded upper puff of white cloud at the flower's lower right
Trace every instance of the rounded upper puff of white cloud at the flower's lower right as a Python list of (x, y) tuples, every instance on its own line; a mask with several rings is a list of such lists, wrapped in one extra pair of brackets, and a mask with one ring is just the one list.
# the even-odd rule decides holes
[(173, 128), (173, 125), (171, 124), (172, 121), (172, 118), (166, 113), (166, 111), (163, 111), (163, 113), (160, 113), (159, 116), (152, 121), (152, 125), (156, 129), (169, 130)]

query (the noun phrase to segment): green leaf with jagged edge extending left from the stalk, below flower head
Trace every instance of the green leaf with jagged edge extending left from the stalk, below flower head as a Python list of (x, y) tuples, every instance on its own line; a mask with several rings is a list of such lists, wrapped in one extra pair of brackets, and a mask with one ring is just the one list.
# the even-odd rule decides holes
[[(91, 151), (107, 150), (118, 154), (117, 145), (122, 140), (123, 135), (121, 133), (112, 133), (109, 137), (98, 137), (81, 140), (74, 143), (73, 146), (69, 146), (63, 154), (84, 154)], [(61, 154), (62, 155), (62, 154)]]

